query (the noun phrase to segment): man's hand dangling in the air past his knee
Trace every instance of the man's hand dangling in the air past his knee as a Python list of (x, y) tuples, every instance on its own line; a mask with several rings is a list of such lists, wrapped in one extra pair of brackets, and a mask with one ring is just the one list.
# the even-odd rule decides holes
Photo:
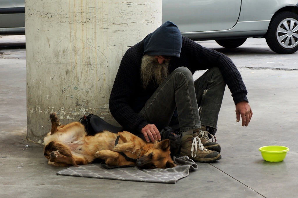
[(248, 102), (241, 101), (236, 104), (236, 121), (240, 121), (240, 115), (242, 118), (242, 126), (248, 126), (252, 118), (252, 108), (250, 108)]

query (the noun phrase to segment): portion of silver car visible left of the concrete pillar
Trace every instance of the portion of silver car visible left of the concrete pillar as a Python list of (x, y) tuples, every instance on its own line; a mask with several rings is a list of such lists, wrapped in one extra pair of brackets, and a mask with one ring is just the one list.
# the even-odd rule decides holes
[(0, 35), (25, 34), (25, 0), (0, 0)]

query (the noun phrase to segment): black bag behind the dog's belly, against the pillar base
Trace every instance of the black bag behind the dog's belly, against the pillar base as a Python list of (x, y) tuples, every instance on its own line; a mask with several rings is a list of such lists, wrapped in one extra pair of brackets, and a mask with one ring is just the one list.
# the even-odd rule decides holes
[(118, 133), (123, 130), (123, 127), (111, 125), (99, 116), (93, 114), (84, 115), (80, 120), (82, 120), (81, 123), (85, 126), (87, 135), (89, 136), (103, 132), (104, 130), (112, 133)]

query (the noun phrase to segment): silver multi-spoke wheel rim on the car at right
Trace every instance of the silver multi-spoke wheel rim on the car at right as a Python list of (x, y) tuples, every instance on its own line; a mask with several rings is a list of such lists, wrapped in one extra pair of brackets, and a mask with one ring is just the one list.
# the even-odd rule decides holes
[(298, 21), (294, 18), (286, 18), (280, 22), (276, 31), (279, 44), (287, 49), (298, 45)]

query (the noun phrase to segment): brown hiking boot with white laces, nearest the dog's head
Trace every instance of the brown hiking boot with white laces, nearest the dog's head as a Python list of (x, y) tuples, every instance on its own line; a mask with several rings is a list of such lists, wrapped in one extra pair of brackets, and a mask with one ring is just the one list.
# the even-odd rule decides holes
[(187, 134), (181, 137), (181, 155), (189, 156), (198, 162), (213, 162), (221, 159), (221, 154), (210, 151), (202, 145), (201, 139), (194, 134)]

